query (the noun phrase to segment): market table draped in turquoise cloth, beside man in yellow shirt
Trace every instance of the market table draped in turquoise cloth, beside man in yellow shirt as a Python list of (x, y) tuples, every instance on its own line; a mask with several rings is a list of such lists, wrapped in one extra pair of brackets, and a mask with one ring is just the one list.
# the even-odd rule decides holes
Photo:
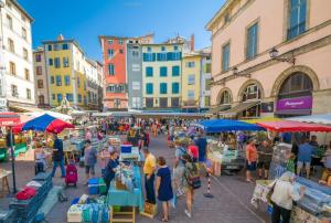
[[(136, 208), (138, 206), (140, 212), (143, 211), (143, 194), (141, 188), (141, 176), (139, 167), (134, 167), (135, 182), (137, 187), (134, 191), (118, 190), (116, 189), (116, 182), (113, 181), (107, 194), (107, 204), (110, 206), (110, 223), (113, 222), (132, 222), (136, 221)], [(113, 206), (130, 206), (132, 211), (129, 212), (114, 212)], [(117, 219), (115, 215), (130, 215), (130, 219)]]

